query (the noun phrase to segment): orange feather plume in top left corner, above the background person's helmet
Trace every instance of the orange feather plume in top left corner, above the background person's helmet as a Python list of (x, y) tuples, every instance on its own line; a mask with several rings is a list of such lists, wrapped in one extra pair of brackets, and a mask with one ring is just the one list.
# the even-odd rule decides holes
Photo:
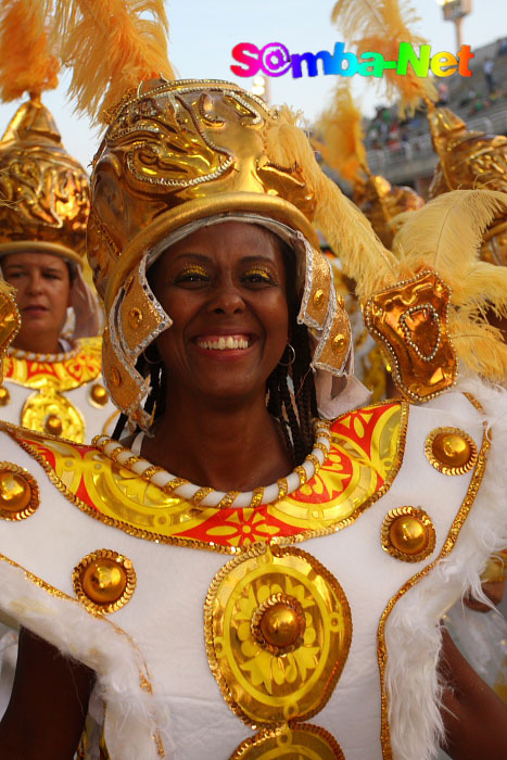
[(45, 12), (34, 0), (2, 0), (0, 4), (0, 97), (40, 94), (58, 86), (60, 63), (45, 29)]

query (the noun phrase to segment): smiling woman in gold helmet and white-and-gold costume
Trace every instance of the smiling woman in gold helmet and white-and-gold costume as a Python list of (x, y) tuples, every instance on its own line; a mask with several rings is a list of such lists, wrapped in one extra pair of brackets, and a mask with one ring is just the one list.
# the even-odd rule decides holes
[[(502, 702), (440, 620), (506, 541), (506, 395), (454, 389), (445, 278), (380, 244), (294, 117), (173, 80), (129, 8), (62, 11), (77, 80), (91, 47), (111, 85), (87, 244), (123, 416), (92, 446), (0, 431), (25, 630), (0, 760), (72, 758), (87, 711), (87, 759), (429, 760), (445, 731), (500, 757)], [(313, 223), (419, 405), (368, 404)]]

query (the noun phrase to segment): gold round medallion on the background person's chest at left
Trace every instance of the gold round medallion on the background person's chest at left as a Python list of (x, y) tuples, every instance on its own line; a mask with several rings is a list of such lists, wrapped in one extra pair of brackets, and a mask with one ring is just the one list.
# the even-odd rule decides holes
[(21, 413), (21, 423), (39, 433), (61, 435), (75, 443), (85, 440), (85, 420), (66, 396), (45, 388), (28, 396)]

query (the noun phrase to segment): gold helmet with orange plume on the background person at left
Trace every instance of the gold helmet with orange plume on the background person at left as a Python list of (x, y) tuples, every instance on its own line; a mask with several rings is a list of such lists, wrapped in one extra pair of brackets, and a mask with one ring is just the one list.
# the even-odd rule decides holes
[(43, 91), (58, 86), (60, 63), (46, 30), (45, 7), (3, 3), (0, 14), (0, 97), (28, 93), (0, 140), (0, 263), (15, 252), (51, 253), (73, 263), (73, 338), (100, 327), (97, 297), (87, 284), (88, 177), (62, 144)]

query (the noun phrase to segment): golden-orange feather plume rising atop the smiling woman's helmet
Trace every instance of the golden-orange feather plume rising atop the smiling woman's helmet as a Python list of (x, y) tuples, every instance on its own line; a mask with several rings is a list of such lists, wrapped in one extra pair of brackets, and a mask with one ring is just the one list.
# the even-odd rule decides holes
[(52, 35), (72, 66), (76, 111), (106, 122), (126, 92), (145, 79), (174, 79), (163, 0), (51, 0)]

